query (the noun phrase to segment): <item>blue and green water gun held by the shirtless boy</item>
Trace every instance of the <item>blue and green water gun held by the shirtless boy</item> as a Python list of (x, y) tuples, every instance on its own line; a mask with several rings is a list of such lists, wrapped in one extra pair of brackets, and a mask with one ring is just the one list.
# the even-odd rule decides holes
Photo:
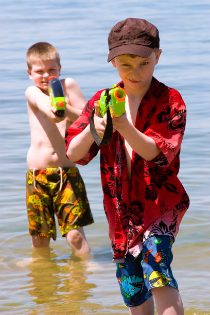
[(66, 101), (63, 93), (61, 81), (54, 76), (49, 77), (49, 97), (51, 104), (57, 110), (56, 115), (63, 117), (65, 113)]

